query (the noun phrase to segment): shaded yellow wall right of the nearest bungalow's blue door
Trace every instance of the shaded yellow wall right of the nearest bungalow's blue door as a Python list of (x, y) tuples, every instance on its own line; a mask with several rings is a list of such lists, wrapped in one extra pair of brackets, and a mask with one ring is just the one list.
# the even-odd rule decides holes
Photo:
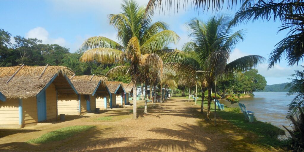
[(56, 88), (55, 85), (51, 84), (46, 89), (46, 99), (47, 99), (47, 120), (57, 119), (57, 98), (56, 98)]

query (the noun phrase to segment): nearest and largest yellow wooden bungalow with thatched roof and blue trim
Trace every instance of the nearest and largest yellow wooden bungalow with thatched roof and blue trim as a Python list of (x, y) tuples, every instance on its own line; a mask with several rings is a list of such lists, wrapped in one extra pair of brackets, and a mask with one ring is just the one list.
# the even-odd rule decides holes
[(0, 127), (22, 128), (43, 121), (57, 120), (57, 99), (78, 95), (66, 75), (67, 67), (0, 67)]

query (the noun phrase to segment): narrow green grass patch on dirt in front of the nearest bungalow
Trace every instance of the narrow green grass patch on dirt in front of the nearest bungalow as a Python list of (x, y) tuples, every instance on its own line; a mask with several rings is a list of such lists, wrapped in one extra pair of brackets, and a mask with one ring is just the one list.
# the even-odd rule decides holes
[(95, 126), (69, 126), (43, 134), (36, 139), (27, 141), (27, 143), (49, 143), (52, 141), (60, 141), (72, 137), (78, 133), (88, 131), (92, 128), (95, 128)]

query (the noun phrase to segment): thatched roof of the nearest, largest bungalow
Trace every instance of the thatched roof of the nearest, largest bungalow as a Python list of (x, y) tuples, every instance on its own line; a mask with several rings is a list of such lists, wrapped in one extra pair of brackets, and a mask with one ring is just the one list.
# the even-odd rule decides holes
[[(69, 91), (62, 91), (60, 93), (76, 93), (73, 86), (69, 85), (69, 80), (64, 77), (64, 74), (74, 74), (67, 67), (61, 66), (48, 66), (44, 74), (40, 78), (42, 71), (45, 67), (29, 67), (23, 66), (11, 78), (11, 76), (20, 68), (16, 67), (0, 67), (0, 92), (7, 98), (28, 98), (36, 96), (55, 76), (58, 74), (56, 81), (57, 88)], [(11, 80), (6, 83), (9, 79)], [(39, 79), (40, 78), (40, 79)], [(60, 85), (60, 86), (59, 86)]]

